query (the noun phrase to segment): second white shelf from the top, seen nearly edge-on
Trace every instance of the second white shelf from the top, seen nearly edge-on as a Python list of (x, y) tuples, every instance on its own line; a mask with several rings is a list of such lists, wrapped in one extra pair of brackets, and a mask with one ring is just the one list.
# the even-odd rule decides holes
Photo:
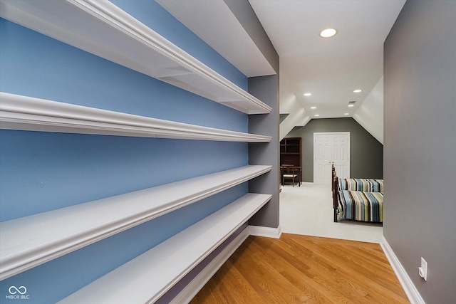
[(270, 142), (271, 137), (159, 120), (0, 92), (0, 128), (229, 142)]

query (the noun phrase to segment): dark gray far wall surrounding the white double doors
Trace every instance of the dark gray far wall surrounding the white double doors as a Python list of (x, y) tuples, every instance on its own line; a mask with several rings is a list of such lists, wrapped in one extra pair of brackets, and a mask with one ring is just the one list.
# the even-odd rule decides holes
[(383, 145), (353, 118), (311, 120), (286, 137), (302, 137), (303, 182), (314, 182), (314, 132), (350, 132), (351, 177), (383, 178)]

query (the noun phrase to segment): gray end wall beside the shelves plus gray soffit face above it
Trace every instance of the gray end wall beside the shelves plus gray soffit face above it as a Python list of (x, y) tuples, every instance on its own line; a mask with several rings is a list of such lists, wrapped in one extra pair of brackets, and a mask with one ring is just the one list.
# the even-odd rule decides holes
[(272, 164), (271, 172), (249, 182), (249, 192), (272, 194), (271, 201), (249, 220), (249, 225), (277, 228), (279, 226), (279, 55), (249, 1), (224, 0), (224, 2), (277, 73), (249, 78), (249, 93), (272, 108), (268, 115), (249, 115), (250, 133), (272, 137), (271, 142), (266, 144), (249, 144), (249, 164)]

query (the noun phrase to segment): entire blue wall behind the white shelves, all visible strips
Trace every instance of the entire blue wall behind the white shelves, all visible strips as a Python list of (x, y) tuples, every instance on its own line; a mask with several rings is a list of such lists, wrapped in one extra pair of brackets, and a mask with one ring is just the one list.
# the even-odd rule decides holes
[[(247, 88), (247, 77), (155, 1), (113, 3)], [(244, 113), (4, 19), (0, 41), (3, 92), (247, 132)], [(247, 143), (0, 130), (0, 220), (247, 164)], [(33, 303), (54, 303), (247, 192), (240, 184), (20, 273), (0, 282), (0, 296), (24, 285)]]

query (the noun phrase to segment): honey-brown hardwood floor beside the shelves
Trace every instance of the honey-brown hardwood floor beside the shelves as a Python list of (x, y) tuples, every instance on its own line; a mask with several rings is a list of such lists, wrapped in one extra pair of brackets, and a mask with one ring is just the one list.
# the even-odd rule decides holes
[(377, 243), (249, 236), (190, 302), (410, 303)]

